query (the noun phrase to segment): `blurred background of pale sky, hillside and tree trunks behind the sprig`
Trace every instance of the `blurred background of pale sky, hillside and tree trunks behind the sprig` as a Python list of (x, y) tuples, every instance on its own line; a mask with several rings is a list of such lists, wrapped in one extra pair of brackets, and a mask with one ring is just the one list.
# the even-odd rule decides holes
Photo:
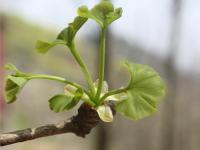
[[(3, 98), (3, 65), (14, 63), (25, 72), (60, 75), (85, 84), (79, 66), (67, 48), (47, 55), (35, 51), (38, 39), (51, 41), (90, 0), (0, 0), (0, 132), (56, 123), (76, 114), (56, 114), (48, 99), (63, 86), (34, 80), (18, 101)], [(106, 79), (110, 89), (128, 82), (120, 61), (129, 59), (154, 67), (167, 83), (167, 96), (158, 113), (141, 121), (116, 115), (112, 124), (101, 124), (85, 139), (73, 134), (42, 138), (1, 148), (3, 150), (199, 150), (200, 149), (200, 1), (113, 0), (123, 7), (123, 17), (108, 32)], [(99, 27), (84, 25), (76, 42), (97, 79)]]

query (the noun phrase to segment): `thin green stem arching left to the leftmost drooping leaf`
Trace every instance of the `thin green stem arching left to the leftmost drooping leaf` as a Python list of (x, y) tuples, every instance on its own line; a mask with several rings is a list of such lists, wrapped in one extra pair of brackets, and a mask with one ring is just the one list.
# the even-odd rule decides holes
[(74, 83), (74, 82), (71, 82), (71, 81), (68, 81), (66, 80), (65, 78), (62, 78), (62, 77), (57, 77), (57, 76), (51, 76), (51, 75), (41, 75), (41, 74), (38, 74), (38, 75), (31, 75), (30, 77), (27, 77), (27, 79), (50, 79), (50, 80), (54, 80), (54, 81), (59, 81), (59, 82), (62, 82), (62, 83), (66, 83), (66, 84), (70, 84), (76, 88), (81, 88), (84, 90), (84, 92), (91, 98), (91, 95), (90, 93), (85, 90), (81, 85), (77, 84), (77, 83)]

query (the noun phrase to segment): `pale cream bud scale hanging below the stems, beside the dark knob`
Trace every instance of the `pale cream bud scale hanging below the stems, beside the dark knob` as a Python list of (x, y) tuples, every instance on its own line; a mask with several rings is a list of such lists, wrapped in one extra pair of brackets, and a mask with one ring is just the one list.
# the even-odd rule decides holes
[(97, 107), (97, 113), (100, 119), (104, 122), (112, 122), (113, 121), (113, 113), (110, 106), (101, 105)]

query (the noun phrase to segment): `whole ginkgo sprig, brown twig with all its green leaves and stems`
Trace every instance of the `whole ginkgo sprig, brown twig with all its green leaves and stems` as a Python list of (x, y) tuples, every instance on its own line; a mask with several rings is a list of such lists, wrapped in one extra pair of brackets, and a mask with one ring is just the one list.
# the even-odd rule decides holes
[[(54, 42), (38, 41), (36, 44), (38, 52), (42, 54), (56, 45), (65, 44), (80, 66), (89, 89), (62, 77), (27, 74), (19, 71), (13, 64), (6, 66), (6, 69), (15, 72), (6, 77), (5, 96), (9, 104), (16, 101), (25, 84), (31, 79), (50, 79), (68, 84), (64, 88), (64, 94), (56, 94), (49, 100), (50, 109), (54, 112), (70, 110), (80, 101), (84, 104), (79, 108), (78, 115), (68, 121), (0, 134), (0, 146), (69, 132), (84, 137), (100, 120), (112, 122), (115, 110), (132, 120), (148, 117), (157, 110), (160, 99), (165, 95), (165, 83), (153, 68), (125, 61), (124, 66), (131, 76), (127, 87), (108, 91), (108, 85), (104, 81), (106, 29), (121, 16), (122, 8), (115, 9), (108, 1), (102, 1), (92, 9), (81, 6), (78, 16), (59, 33)], [(102, 29), (98, 82), (93, 82), (92, 75), (74, 43), (76, 33), (88, 19), (95, 20)], [(114, 111), (110, 104), (114, 104)]]

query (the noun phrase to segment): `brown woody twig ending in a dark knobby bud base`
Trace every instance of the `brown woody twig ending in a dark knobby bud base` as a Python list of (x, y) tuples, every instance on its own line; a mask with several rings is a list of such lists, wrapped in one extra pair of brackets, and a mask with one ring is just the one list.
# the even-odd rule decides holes
[(87, 104), (82, 104), (78, 110), (78, 114), (71, 119), (57, 124), (0, 134), (0, 146), (64, 133), (74, 133), (77, 136), (85, 137), (99, 122), (100, 118), (96, 110)]

